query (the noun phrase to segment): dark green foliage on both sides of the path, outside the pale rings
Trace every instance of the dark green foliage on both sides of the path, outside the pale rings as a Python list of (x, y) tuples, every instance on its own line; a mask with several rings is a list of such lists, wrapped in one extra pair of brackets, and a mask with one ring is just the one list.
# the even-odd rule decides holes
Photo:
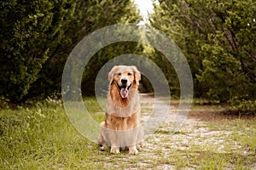
[[(195, 97), (252, 108), (250, 101), (256, 96), (255, 2), (159, 2), (150, 25), (182, 48), (194, 77)], [(0, 5), (0, 96), (13, 103), (60, 92), (67, 56), (84, 36), (104, 26), (141, 20), (129, 0), (3, 0)], [(83, 94), (94, 93), (93, 82), (102, 65), (129, 53), (154, 60), (166, 75), (171, 94), (179, 95), (172, 65), (156, 49), (136, 42), (110, 44), (95, 54), (84, 69)], [(146, 77), (143, 85), (143, 90), (152, 91)]]

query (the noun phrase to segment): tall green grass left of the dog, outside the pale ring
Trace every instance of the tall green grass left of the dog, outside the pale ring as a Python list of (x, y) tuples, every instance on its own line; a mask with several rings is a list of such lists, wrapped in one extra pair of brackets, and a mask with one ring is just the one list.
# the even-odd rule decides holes
[(61, 100), (46, 99), (0, 111), (0, 150), (0, 169), (68, 169), (88, 166), (97, 144), (74, 129)]

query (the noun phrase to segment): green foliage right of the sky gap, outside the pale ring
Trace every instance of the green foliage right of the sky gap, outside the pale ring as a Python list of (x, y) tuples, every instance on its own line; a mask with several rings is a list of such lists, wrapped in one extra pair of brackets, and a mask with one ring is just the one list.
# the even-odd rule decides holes
[(151, 26), (182, 48), (195, 79), (195, 96), (255, 99), (256, 3), (160, 0)]

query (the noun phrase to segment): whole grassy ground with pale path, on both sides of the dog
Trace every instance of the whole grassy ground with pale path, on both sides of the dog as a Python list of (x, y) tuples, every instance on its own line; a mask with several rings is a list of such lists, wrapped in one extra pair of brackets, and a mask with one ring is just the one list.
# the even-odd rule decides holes
[[(96, 121), (102, 121), (96, 99), (84, 102)], [(193, 105), (178, 132), (168, 133), (172, 121), (164, 123), (131, 156), (100, 151), (69, 122), (61, 100), (17, 109), (3, 105), (0, 169), (255, 169), (256, 117), (219, 115), (223, 109)]]

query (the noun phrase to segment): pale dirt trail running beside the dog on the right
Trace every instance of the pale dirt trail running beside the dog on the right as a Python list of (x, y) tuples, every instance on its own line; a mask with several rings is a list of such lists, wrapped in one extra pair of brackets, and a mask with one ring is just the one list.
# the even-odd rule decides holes
[[(154, 101), (154, 97), (147, 94), (142, 95), (143, 121), (147, 119), (148, 113), (153, 110)], [(230, 138), (230, 133), (232, 133), (229, 129), (212, 129), (211, 123), (209, 124), (209, 122), (203, 120), (201, 116), (188, 116), (183, 126), (176, 133), (170, 133), (172, 125), (175, 123), (176, 111), (177, 106), (171, 105), (171, 110), (166, 116), (165, 122), (161, 124), (154, 135), (146, 139), (142, 150), (142, 155), (146, 158), (140, 158), (142, 160), (138, 164), (139, 167), (150, 169), (152, 161), (159, 161), (157, 167), (152, 169), (176, 169), (177, 166), (170, 163), (172, 156), (182, 156), (183, 153), (188, 152), (190, 155), (200, 156), (201, 153), (207, 150), (214, 150), (214, 153), (223, 155), (241, 149), (241, 144), (235, 140), (230, 139), (227, 143), (227, 139)], [(197, 149), (198, 146), (201, 147), (200, 153)], [(229, 148), (229, 151), (226, 150), (227, 148)], [(247, 154), (250, 154), (249, 150), (244, 151), (244, 156), (247, 156)], [(148, 159), (147, 156), (150, 156), (150, 158)], [(189, 169), (194, 169), (193, 165)]]

